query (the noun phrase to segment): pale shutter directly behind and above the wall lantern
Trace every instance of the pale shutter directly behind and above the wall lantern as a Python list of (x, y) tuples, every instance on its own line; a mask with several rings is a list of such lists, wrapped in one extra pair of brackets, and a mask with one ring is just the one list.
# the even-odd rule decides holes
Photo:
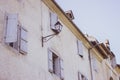
[(51, 26), (51, 29), (55, 29), (55, 24), (57, 23), (57, 21), (58, 21), (57, 14), (55, 14), (53, 12), (50, 12), (50, 26)]

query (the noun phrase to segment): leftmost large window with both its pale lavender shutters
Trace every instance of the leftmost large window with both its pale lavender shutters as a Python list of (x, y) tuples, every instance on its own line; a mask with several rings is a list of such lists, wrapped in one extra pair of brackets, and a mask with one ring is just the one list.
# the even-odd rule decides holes
[(8, 14), (5, 43), (21, 53), (27, 53), (27, 31), (18, 25), (18, 15)]

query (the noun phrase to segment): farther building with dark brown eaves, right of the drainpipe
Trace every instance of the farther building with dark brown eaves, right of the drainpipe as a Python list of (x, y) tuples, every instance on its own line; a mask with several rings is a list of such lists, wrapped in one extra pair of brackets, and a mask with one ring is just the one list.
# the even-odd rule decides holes
[[(91, 63), (92, 63), (92, 76), (93, 80), (119, 80), (119, 67), (116, 70), (115, 55), (110, 50), (107, 43), (99, 43), (97, 39), (92, 36), (86, 36), (88, 40), (93, 44), (91, 48)], [(99, 52), (93, 52), (92, 50), (97, 49)], [(103, 57), (101, 58), (100, 55)]]

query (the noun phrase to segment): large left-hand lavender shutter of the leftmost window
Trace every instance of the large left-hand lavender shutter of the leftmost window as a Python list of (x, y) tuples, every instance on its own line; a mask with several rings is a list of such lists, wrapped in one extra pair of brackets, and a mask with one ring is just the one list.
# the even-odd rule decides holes
[(18, 25), (18, 15), (8, 14), (5, 42), (9, 43), (9, 42), (17, 41), (17, 25)]

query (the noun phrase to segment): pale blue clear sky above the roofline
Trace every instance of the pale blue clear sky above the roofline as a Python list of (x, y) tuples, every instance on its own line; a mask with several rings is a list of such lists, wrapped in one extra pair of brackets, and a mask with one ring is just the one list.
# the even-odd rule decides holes
[(106, 39), (120, 64), (120, 0), (56, 0), (64, 11), (72, 10), (73, 22), (100, 43)]

